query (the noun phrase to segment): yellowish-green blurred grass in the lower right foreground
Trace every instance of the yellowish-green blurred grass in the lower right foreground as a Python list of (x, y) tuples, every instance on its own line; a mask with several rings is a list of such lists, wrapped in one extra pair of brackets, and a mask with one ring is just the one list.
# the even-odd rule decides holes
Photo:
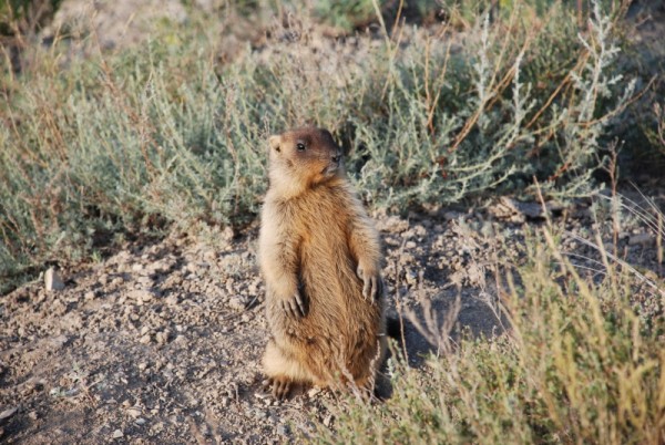
[(332, 406), (335, 426), (319, 427), (316, 442), (663, 443), (665, 283), (594, 239), (584, 240), (600, 258), (589, 273), (560, 232), (543, 228), (528, 262), (501, 275), (507, 333), (452, 343), (454, 310), (448, 322), (420, 323), (439, 351), (424, 372), (397, 351), (392, 397)]

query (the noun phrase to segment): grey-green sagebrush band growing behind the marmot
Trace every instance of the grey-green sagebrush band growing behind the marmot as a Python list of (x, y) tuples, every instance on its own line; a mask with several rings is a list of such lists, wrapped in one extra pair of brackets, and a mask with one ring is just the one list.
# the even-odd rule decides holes
[[(529, 2), (467, 32), (399, 27), (355, 50), (293, 21), (219, 64), (209, 17), (141, 46), (72, 54), (57, 39), (0, 85), (0, 276), (85, 258), (113, 234), (254, 218), (265, 141), (327, 126), (375, 207), (403, 211), (490, 190), (577, 196), (632, 84), (613, 70), (614, 21), (590, 30)], [(231, 20), (231, 19), (228, 19)], [(84, 42), (85, 43), (85, 42)], [(69, 49), (68, 49), (69, 48)]]

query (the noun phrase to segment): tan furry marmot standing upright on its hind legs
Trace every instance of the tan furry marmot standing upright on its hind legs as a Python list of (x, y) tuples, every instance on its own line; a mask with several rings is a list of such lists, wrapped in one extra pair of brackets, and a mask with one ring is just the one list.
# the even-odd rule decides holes
[(258, 257), (273, 394), (294, 383), (370, 390), (387, 344), (381, 247), (327, 130), (270, 136)]

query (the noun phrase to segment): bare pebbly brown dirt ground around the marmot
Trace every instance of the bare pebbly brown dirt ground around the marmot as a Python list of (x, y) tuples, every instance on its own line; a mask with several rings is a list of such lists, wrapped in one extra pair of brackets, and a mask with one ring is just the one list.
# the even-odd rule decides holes
[[(653, 196), (665, 201), (662, 189)], [(554, 224), (592, 239), (589, 205), (553, 206)], [(453, 335), (505, 328), (495, 317), (493, 271), (523, 262), (524, 234), (544, 224), (539, 205), (503, 198), (482, 211), (375, 217), (392, 313), (412, 309), (422, 319), (428, 301), (442, 320), (460, 296)], [(326, 406), (335, 394), (306, 389), (278, 402), (262, 389), (267, 331), (257, 232), (255, 224), (205, 241), (134, 244), (61, 271), (62, 290), (47, 291), (42, 279), (2, 297), (0, 441), (285, 443), (311, 433), (315, 422), (332, 425)], [(563, 239), (565, 249), (593, 257), (573, 235)], [(662, 277), (657, 240), (644, 224), (626, 218), (618, 239), (625, 258)], [(662, 317), (663, 301), (643, 310)], [(431, 346), (408, 320), (406, 343), (420, 366)]]

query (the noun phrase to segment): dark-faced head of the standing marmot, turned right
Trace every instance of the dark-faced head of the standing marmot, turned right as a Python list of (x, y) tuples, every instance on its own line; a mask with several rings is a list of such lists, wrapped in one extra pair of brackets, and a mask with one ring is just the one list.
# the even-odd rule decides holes
[(306, 189), (344, 174), (341, 148), (324, 128), (270, 136), (270, 185)]

